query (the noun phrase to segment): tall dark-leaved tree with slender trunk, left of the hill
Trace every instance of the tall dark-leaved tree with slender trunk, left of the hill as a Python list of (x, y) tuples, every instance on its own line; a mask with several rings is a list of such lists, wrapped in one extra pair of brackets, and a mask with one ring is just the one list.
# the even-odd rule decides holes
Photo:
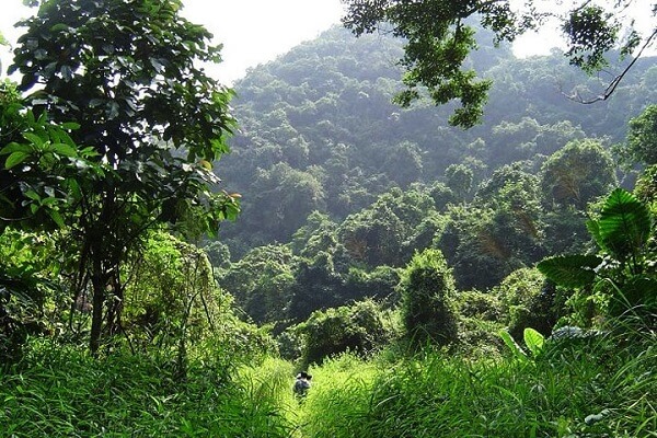
[[(212, 195), (211, 162), (227, 151), (231, 93), (199, 61), (218, 61), (210, 34), (180, 16), (180, 0), (43, 0), (14, 50), (11, 71), (36, 112), (77, 122), (72, 139), (106, 164), (74, 187), (66, 218), (79, 255), (77, 293), (93, 289), (90, 348), (118, 332), (126, 254), (157, 223), (212, 231), (237, 199)], [(187, 222), (191, 223), (191, 222)]]

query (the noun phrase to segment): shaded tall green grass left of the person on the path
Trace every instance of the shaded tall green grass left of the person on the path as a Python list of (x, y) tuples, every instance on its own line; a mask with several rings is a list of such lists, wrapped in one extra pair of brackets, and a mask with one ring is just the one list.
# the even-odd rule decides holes
[[(32, 346), (0, 373), (1, 437), (288, 437), (276, 399), (196, 364)], [(218, 353), (219, 354), (219, 353)]]

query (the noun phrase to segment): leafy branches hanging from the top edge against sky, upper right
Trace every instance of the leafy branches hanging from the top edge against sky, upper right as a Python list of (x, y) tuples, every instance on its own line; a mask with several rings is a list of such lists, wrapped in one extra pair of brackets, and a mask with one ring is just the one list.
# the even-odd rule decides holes
[[(403, 81), (406, 90), (396, 100), (408, 106), (419, 97), (418, 88), (426, 87), (436, 104), (459, 100), (450, 123), (464, 128), (481, 122), (491, 81), (477, 80), (468, 68), (468, 55), (477, 48), (474, 20), (495, 34), (495, 43), (512, 42), (518, 35), (543, 25), (553, 11), (541, 12), (534, 1), (518, 7), (510, 1), (431, 0), (408, 2), (401, 0), (344, 0), (348, 7), (344, 24), (356, 35), (391, 27), (392, 33), (406, 41), (401, 64), (406, 68)], [(641, 34), (630, 24), (627, 37), (620, 32), (620, 19), (633, 0), (619, 1), (607, 7), (578, 1), (561, 16), (562, 30), (567, 37), (566, 56), (570, 64), (589, 73), (609, 65), (606, 54), (620, 46), (622, 56), (650, 45), (657, 30)], [(655, 14), (655, 11), (646, 11)], [(639, 50), (636, 50), (641, 46)], [(630, 66), (632, 66), (632, 62)], [(630, 67), (616, 76), (600, 99), (607, 99)]]

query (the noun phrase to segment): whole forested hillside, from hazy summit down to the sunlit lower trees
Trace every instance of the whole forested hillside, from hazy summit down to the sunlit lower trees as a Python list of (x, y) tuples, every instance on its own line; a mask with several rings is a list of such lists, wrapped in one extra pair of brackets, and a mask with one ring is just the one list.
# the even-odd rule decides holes
[(395, 306), (400, 268), (425, 249), (459, 290), (485, 291), (590, 244), (589, 203), (633, 184), (612, 146), (657, 99), (654, 59), (585, 105), (566, 93), (602, 80), (563, 54), (481, 47), (471, 62), (494, 85), (469, 130), (447, 124), (450, 107), (391, 103), (401, 46), (384, 35), (333, 28), (235, 84), (241, 132), (222, 163), (243, 212), (208, 250), (251, 318), (287, 326), (366, 297)]

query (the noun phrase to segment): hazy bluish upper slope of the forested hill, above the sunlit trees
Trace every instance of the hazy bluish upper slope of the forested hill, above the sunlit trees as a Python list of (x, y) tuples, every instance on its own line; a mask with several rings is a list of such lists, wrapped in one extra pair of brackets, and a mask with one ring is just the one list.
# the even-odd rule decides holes
[(623, 141), (630, 118), (657, 99), (657, 70), (645, 59), (614, 99), (584, 105), (566, 96), (598, 92), (606, 78), (588, 78), (561, 53), (517, 59), (482, 37), (472, 64), (494, 80), (484, 123), (450, 127), (450, 107), (429, 102), (402, 110), (401, 44), (385, 35), (354, 38), (333, 28), (235, 83), (241, 134), (223, 158), (222, 177), (243, 196), (244, 212), (222, 239), (233, 256), (287, 242), (319, 210), (334, 220), (378, 195), (414, 182), (447, 182), (452, 164), (473, 172), (473, 184), (504, 164), (529, 161), (538, 170), (569, 140)]

